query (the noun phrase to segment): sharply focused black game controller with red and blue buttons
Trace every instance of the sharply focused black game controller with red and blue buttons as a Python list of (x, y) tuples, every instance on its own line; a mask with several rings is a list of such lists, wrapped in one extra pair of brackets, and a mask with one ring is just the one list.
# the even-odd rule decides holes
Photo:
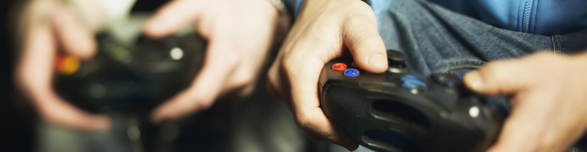
[(450, 74), (409, 73), (406, 56), (387, 50), (383, 74), (332, 60), (320, 76), (321, 107), (362, 146), (376, 151), (483, 151), (494, 143), (507, 112), (465, 89)]

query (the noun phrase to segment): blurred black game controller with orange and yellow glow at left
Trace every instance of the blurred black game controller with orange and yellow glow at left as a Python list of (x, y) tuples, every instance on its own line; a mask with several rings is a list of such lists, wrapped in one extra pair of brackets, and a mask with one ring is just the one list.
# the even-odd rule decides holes
[(148, 39), (122, 45), (97, 36), (99, 48), (89, 60), (68, 56), (57, 60), (55, 90), (82, 109), (103, 107), (136, 112), (151, 110), (191, 84), (202, 66), (205, 40), (197, 34)]

